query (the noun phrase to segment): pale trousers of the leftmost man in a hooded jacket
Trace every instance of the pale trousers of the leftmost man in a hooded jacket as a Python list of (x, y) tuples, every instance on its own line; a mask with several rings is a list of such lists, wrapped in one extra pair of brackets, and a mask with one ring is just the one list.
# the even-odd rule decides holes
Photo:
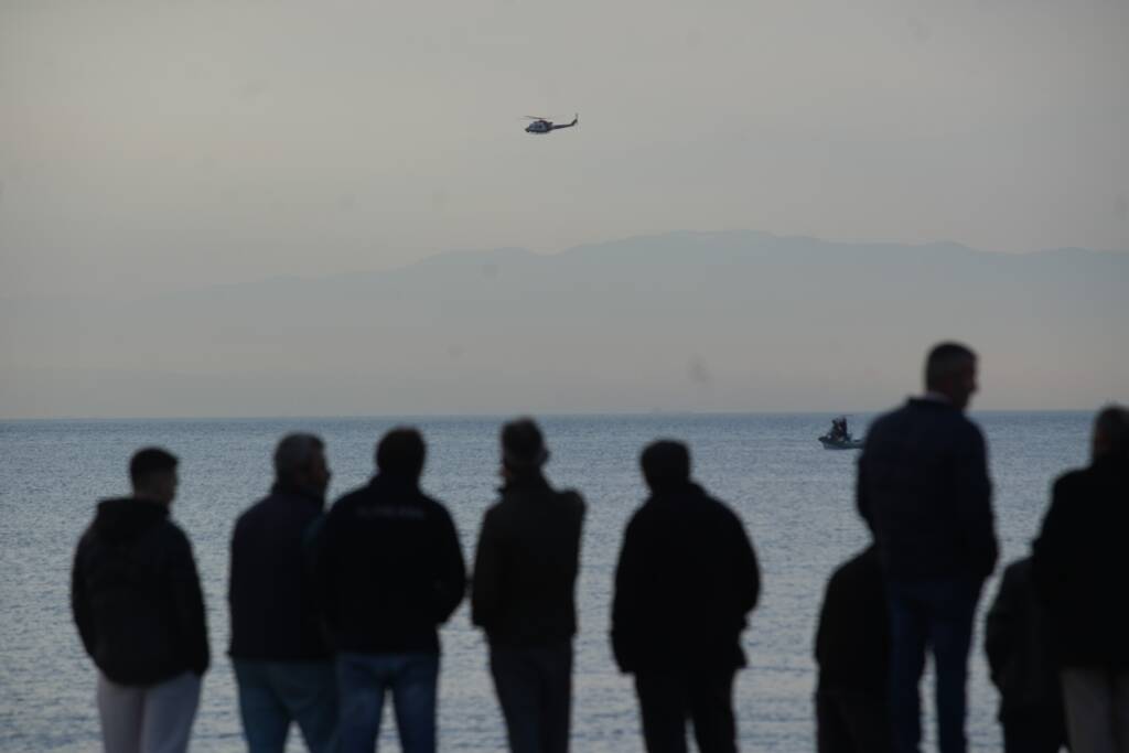
[(200, 704), (200, 677), (185, 672), (156, 685), (119, 685), (98, 673), (106, 753), (184, 753)]

